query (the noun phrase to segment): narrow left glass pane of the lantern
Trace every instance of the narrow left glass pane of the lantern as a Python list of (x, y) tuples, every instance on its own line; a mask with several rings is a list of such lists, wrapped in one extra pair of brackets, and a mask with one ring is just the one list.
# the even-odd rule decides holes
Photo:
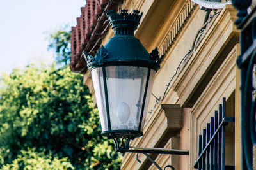
[(102, 67), (92, 70), (93, 87), (99, 110), (100, 124), (102, 131), (108, 131), (108, 118), (106, 112), (106, 99), (104, 91), (104, 81)]

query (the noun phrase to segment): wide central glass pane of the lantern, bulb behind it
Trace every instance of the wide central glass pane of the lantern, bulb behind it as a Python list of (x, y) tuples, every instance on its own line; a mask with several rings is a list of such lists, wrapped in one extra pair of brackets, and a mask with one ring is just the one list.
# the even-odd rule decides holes
[(139, 131), (148, 71), (147, 67), (106, 67), (111, 130)]

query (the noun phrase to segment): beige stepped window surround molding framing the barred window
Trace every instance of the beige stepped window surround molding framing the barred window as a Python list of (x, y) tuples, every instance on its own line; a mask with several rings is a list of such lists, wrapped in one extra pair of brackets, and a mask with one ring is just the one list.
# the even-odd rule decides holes
[[(222, 97), (229, 97), (236, 89), (236, 57), (239, 45), (234, 46), (227, 58), (221, 64), (217, 73), (209, 82), (200, 98), (191, 110), (191, 145), (190, 164), (193, 164), (198, 154), (198, 135), (205, 128), (210, 117), (214, 117), (214, 110), (218, 109)], [(221, 83), (220, 83), (221, 82)]]

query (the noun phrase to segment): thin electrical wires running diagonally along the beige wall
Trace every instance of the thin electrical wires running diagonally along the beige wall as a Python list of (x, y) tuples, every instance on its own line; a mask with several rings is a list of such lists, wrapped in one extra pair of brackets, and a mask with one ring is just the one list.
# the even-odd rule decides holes
[(172, 78), (170, 79), (170, 81), (168, 82), (168, 84), (166, 84), (166, 89), (164, 90), (163, 96), (159, 96), (156, 97), (156, 95), (154, 95), (153, 93), (152, 96), (154, 96), (156, 98), (156, 103), (154, 105), (154, 108), (152, 110), (149, 111), (149, 113), (151, 114), (152, 111), (156, 108), (157, 104), (159, 104), (160, 101), (163, 101), (164, 97), (166, 96), (166, 92), (169, 89), (173, 78), (175, 78), (175, 76), (177, 75), (177, 73), (180, 70), (180, 66), (184, 63), (185, 60), (188, 59), (189, 55), (193, 52), (193, 54), (195, 53), (196, 50), (196, 44), (198, 43), (200, 37), (202, 36), (202, 34), (204, 34), (205, 30), (206, 30), (206, 26), (208, 24), (210, 24), (210, 22), (212, 21), (212, 19), (214, 17), (216, 17), (220, 11), (216, 12), (216, 10), (213, 10), (214, 14), (211, 15), (211, 11), (207, 11), (206, 15), (205, 15), (205, 20), (204, 20), (204, 24), (202, 25), (202, 27), (197, 31), (196, 36), (195, 36), (195, 40), (193, 41), (193, 45), (191, 47), (191, 49), (188, 51), (188, 53), (182, 58), (182, 60), (180, 60), (179, 66), (177, 67), (175, 74), (173, 74)]

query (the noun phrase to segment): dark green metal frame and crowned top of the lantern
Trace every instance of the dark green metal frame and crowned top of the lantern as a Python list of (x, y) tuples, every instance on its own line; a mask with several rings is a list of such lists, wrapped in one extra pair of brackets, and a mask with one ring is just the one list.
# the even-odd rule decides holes
[[(136, 39), (133, 35), (133, 32), (137, 29), (143, 13), (139, 15), (140, 11), (134, 10), (132, 14), (128, 13), (127, 11), (128, 10), (121, 10), (120, 13), (108, 11), (108, 13), (106, 13), (110, 25), (115, 31), (115, 36), (109, 39), (105, 46), (101, 46), (95, 57), (92, 55), (87, 55), (85, 52), (84, 57), (86, 58), (87, 66), (90, 71), (93, 71), (93, 69), (102, 68), (108, 124), (108, 131), (102, 130), (102, 135), (108, 136), (109, 138), (128, 138), (127, 141), (129, 141), (129, 139), (143, 136), (143, 132), (141, 132), (141, 124), (143, 122), (143, 112), (145, 109), (147, 109), (145, 108), (145, 99), (148, 92), (147, 87), (150, 79), (150, 73), (152, 71), (157, 71), (160, 68), (160, 62), (163, 57), (159, 57), (157, 48), (152, 50), (152, 52), (149, 54), (143, 45), (141, 45), (140, 41), (138, 41), (138, 39)], [(124, 48), (129, 49), (125, 52)], [(106, 75), (106, 68), (111, 66), (143, 67), (148, 69), (145, 90), (142, 96), (143, 101), (141, 104), (141, 113), (138, 120), (138, 130), (113, 129), (111, 126), (113, 122), (111, 122), (110, 118), (111, 114), (109, 111), (109, 94), (107, 83), (108, 78)], [(102, 122), (102, 120), (100, 121)]]

